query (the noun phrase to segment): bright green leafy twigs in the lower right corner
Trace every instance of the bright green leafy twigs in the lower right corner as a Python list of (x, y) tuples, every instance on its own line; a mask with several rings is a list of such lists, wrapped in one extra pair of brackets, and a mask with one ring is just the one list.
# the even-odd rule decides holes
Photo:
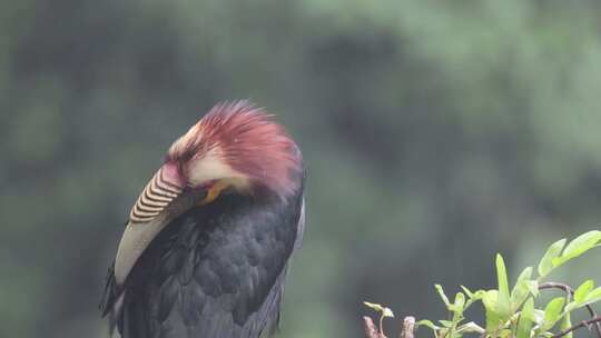
[[(553, 242), (541, 258), (534, 276), (533, 267), (524, 268), (511, 287), (511, 291), (512, 284), (508, 277), (505, 262), (497, 254), (496, 289), (471, 291), (462, 286), (463, 291), (455, 294), (454, 300), (451, 301), (442, 286), (436, 285), (449, 311), (449, 319), (437, 320), (436, 324), (422, 319), (416, 322), (415, 329), (430, 328), (435, 338), (461, 338), (473, 334), (482, 338), (572, 338), (577, 330), (587, 332), (587, 329), (589, 335), (594, 332), (594, 336), (600, 337), (601, 317), (597, 316), (592, 305), (601, 300), (601, 287), (595, 288), (592, 279), (583, 281), (578, 288), (548, 281), (553, 270), (598, 247), (600, 240), (601, 231), (592, 230), (582, 233), (568, 245), (565, 238)], [(548, 289), (559, 289), (563, 294), (549, 302), (544, 299), (541, 301), (543, 298), (541, 291)], [(472, 316), (466, 316), (465, 312), (474, 304), (481, 304), (484, 308), (484, 324), (467, 321)], [(380, 331), (383, 332), (382, 319), (394, 317), (392, 310), (380, 305), (366, 305), (381, 312)], [(589, 318), (572, 320), (574, 315), (584, 312), (584, 309)], [(407, 331), (405, 328), (404, 330)], [(408, 331), (413, 332), (412, 330), (413, 327), (408, 328)]]

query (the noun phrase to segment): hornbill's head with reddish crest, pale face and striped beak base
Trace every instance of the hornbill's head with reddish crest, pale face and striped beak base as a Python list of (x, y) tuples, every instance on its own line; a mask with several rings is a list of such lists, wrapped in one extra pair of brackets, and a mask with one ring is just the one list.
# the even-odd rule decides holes
[(130, 222), (149, 222), (185, 195), (211, 202), (227, 188), (285, 199), (300, 185), (300, 167), (298, 148), (267, 113), (247, 101), (221, 103), (171, 145)]

